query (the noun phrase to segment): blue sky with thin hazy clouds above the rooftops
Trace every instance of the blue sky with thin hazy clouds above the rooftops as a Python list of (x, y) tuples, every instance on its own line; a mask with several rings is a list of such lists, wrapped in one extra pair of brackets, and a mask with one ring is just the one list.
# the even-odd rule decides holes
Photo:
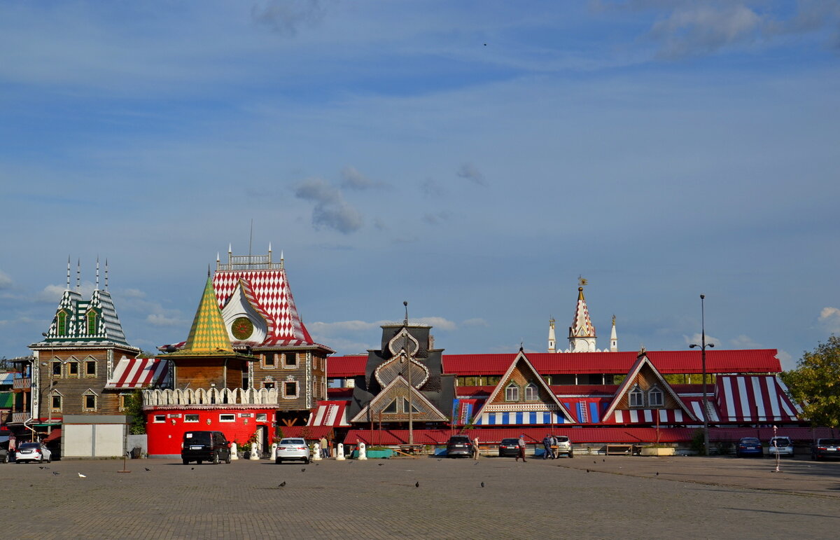
[[(0, 357), (97, 258), (130, 344), (282, 251), (313, 338), (622, 351), (840, 333), (840, 2), (0, 3)], [(104, 282), (101, 271), (100, 286)]]

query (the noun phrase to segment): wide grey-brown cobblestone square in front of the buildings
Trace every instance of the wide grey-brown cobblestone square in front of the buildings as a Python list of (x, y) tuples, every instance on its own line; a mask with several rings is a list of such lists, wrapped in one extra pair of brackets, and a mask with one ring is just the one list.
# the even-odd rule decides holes
[(0, 465), (7, 536), (817, 538), (840, 530), (840, 462), (785, 460), (780, 473), (769, 459), (724, 457), (127, 466), (123, 474), (119, 460)]

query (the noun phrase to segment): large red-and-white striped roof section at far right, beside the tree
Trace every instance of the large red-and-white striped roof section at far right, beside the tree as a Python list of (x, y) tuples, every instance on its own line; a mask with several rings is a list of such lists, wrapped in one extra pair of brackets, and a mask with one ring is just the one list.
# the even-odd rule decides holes
[(718, 375), (715, 383), (721, 421), (796, 421), (798, 407), (774, 375)]

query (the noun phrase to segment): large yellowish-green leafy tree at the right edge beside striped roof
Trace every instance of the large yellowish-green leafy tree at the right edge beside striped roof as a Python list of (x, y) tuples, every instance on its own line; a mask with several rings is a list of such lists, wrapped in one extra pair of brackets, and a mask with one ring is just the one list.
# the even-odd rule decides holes
[(796, 368), (782, 373), (790, 396), (804, 404), (814, 426), (840, 427), (840, 337), (831, 336), (804, 352)]

